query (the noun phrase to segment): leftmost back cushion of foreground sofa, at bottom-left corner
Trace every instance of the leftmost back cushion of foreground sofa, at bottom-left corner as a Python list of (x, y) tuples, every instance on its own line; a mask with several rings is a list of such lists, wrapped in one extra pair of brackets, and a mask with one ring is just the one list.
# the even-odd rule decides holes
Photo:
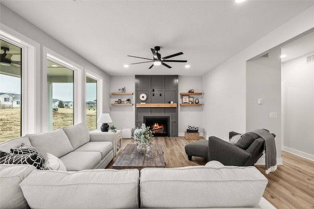
[(26, 176), (35, 170), (32, 165), (0, 165), (0, 206), (3, 209), (29, 209), (19, 186)]

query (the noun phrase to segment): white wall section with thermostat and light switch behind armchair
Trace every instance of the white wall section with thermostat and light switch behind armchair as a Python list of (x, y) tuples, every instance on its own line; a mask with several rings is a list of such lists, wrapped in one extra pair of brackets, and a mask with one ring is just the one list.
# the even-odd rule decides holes
[[(281, 48), (268, 51), (267, 59), (246, 64), (246, 130), (267, 129), (274, 133), (277, 159), (281, 159)], [(262, 98), (263, 104), (258, 100)], [(277, 113), (277, 118), (270, 118)], [(278, 162), (282, 164), (282, 162)], [(265, 156), (256, 164), (265, 164)]]

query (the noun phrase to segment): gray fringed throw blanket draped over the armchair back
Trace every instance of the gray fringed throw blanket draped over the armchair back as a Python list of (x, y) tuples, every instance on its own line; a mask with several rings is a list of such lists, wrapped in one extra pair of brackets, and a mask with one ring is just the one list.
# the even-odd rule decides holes
[(251, 132), (259, 135), (265, 141), (264, 149), (266, 174), (269, 172), (274, 172), (277, 169), (275, 138), (264, 129), (257, 129)]

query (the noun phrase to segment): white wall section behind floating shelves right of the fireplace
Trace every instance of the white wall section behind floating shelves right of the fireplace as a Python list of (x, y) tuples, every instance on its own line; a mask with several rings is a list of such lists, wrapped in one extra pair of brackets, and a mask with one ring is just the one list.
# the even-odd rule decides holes
[[(182, 76), (179, 75), (178, 85), (178, 135), (184, 136), (187, 126), (200, 127), (200, 136), (203, 136), (203, 106), (180, 106), (182, 96), (180, 93), (186, 93), (190, 89), (194, 92), (203, 93), (203, 78), (202, 76)], [(191, 95), (199, 99), (199, 103), (203, 104), (203, 95)]]

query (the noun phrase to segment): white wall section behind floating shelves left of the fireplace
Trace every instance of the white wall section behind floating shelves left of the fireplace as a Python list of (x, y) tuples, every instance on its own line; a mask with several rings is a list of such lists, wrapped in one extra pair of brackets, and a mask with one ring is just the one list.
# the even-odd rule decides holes
[(135, 127), (135, 76), (111, 76), (110, 77), (110, 93), (119, 92), (118, 89), (125, 87), (126, 92), (133, 95), (110, 95), (110, 104), (118, 99), (125, 100), (131, 98), (132, 106), (111, 106), (110, 116), (112, 123), (117, 129)]

